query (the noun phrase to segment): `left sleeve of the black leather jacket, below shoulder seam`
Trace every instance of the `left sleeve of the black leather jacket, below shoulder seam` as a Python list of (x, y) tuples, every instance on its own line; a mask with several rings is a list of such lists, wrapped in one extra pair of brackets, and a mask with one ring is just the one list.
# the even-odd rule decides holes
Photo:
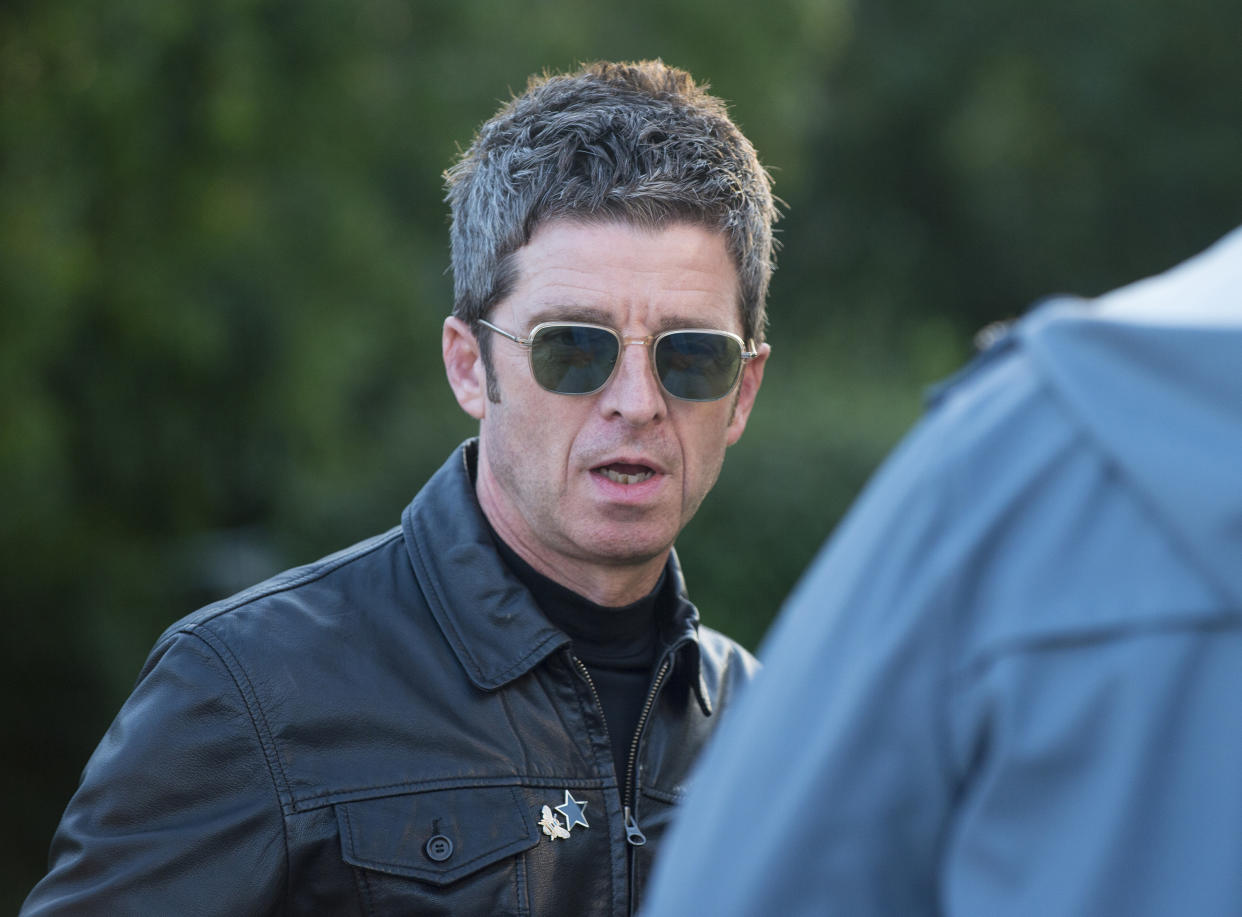
[(200, 637), (158, 647), (88, 762), (22, 916), (273, 912), (283, 819), (247, 695)]

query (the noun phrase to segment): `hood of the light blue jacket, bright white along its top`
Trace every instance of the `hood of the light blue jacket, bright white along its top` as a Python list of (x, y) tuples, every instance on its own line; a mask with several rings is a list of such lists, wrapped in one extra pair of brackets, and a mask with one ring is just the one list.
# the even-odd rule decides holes
[(1072, 421), (1242, 608), (1242, 230), (1095, 301), (1052, 301), (1015, 337)]

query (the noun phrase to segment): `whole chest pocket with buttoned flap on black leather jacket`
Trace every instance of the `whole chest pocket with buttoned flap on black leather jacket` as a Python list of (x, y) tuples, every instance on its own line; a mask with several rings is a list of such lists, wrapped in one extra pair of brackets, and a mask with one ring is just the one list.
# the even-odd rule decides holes
[(520, 854), (539, 834), (513, 787), (345, 803), (337, 806), (337, 823), (366, 913), (530, 912)]

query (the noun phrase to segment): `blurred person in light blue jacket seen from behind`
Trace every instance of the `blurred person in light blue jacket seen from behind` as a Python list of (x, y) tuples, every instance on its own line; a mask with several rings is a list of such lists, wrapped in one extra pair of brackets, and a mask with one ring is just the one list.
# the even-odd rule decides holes
[(765, 640), (684, 915), (1242, 913), (1242, 230), (935, 399)]

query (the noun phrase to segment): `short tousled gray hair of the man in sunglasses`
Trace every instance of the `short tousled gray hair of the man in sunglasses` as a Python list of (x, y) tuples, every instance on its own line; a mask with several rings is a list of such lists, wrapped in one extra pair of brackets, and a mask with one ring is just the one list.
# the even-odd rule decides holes
[(724, 102), (686, 71), (656, 60), (532, 77), (445, 180), (453, 314), (476, 333), (513, 287), (514, 252), (540, 222), (568, 217), (723, 232), (743, 335), (763, 340), (777, 219), (771, 179)]

